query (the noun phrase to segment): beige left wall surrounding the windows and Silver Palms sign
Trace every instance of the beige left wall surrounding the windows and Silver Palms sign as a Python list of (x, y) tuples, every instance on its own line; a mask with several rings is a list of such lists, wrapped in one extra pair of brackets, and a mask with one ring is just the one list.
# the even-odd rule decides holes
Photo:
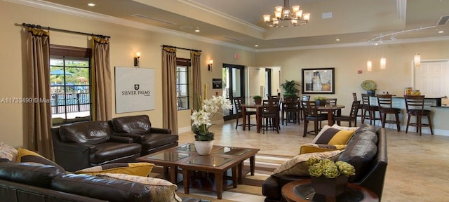
[[(185, 39), (172, 34), (159, 34), (144, 29), (135, 29), (109, 22), (100, 22), (73, 15), (65, 15), (54, 11), (46, 11), (39, 8), (22, 6), (19, 4), (0, 1), (0, 26), (3, 27), (1, 34), (2, 74), (0, 74), (0, 98), (27, 97), (27, 69), (26, 69), (26, 45), (23, 29), (15, 24), (22, 22), (35, 25), (49, 26), (60, 29), (68, 29), (77, 32), (86, 32), (111, 36), (110, 56), (112, 78), (114, 78), (114, 67), (132, 67), (133, 53), (140, 51), (141, 68), (154, 68), (156, 86), (161, 86), (161, 45), (177, 46), (202, 50), (201, 76), (202, 82), (211, 86), (212, 78), (221, 78), (222, 63), (236, 65), (253, 65), (255, 54), (246, 50), (217, 46), (211, 43)], [(65, 46), (89, 47), (91, 42), (88, 36), (67, 34), (62, 32), (51, 32), (51, 43)], [(234, 58), (234, 53), (240, 55)], [(185, 55), (180, 50), (180, 55)], [(189, 55), (189, 54), (187, 54)], [(213, 72), (207, 71), (207, 61), (214, 60)], [(114, 79), (112, 83), (114, 90)], [(135, 114), (149, 115), (152, 125), (162, 126), (162, 94), (161, 88), (156, 91), (156, 109), (146, 112), (133, 112), (126, 114), (114, 114), (115, 116), (127, 116)], [(208, 90), (208, 95), (215, 95), (213, 89)], [(114, 95), (110, 97), (114, 99)], [(115, 103), (114, 103), (115, 106)], [(112, 109), (115, 112), (115, 107)], [(0, 142), (6, 142), (13, 147), (21, 147), (25, 144), (24, 134), (27, 133), (27, 108), (21, 104), (0, 103)], [(190, 128), (189, 110), (180, 112), (180, 128)], [(193, 137), (192, 137), (193, 138)]]

